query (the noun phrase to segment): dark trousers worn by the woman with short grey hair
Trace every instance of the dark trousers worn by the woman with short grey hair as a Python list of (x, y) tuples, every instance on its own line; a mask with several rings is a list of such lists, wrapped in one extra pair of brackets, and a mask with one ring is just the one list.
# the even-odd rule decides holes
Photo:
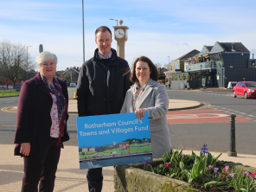
[(54, 191), (55, 173), (61, 156), (61, 146), (57, 145), (58, 138), (51, 138), (50, 143), (29, 156), (23, 157), (24, 176), (22, 192)]

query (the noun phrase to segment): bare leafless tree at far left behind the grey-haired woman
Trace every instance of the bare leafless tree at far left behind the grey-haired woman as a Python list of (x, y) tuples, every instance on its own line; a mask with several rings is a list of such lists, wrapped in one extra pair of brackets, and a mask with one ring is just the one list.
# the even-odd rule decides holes
[[(16, 86), (16, 80), (22, 80), (29, 70), (35, 68), (30, 61), (26, 46), (9, 41), (0, 42), (0, 75), (8, 82), (10, 79)], [(7, 85), (8, 86), (8, 85)]]

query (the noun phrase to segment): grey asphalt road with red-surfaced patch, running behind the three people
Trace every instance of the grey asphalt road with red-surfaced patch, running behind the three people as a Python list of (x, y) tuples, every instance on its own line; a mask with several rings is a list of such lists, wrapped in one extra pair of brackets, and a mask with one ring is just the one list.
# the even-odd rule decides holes
[[(238, 153), (256, 155), (256, 99), (232, 98), (230, 92), (194, 92), (168, 90), (170, 99), (200, 101), (201, 108), (174, 111), (167, 114), (174, 149), (200, 150), (208, 144), (208, 151), (227, 152), (229, 146), (230, 113), (236, 118), (236, 150)], [(74, 90), (70, 92), (74, 95)], [(0, 98), (0, 109), (17, 106), (18, 97)], [(77, 145), (77, 114), (67, 121), (70, 140)], [(0, 111), (0, 144), (12, 144), (16, 130), (16, 113)]]

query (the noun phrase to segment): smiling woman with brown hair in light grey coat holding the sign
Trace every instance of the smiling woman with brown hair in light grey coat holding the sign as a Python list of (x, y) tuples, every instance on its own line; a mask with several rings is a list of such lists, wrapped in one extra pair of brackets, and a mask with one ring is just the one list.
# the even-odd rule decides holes
[(130, 80), (134, 85), (127, 91), (121, 113), (135, 112), (139, 119), (149, 113), (153, 158), (170, 151), (170, 131), (166, 113), (169, 98), (165, 87), (157, 82), (157, 67), (145, 56), (134, 61)]

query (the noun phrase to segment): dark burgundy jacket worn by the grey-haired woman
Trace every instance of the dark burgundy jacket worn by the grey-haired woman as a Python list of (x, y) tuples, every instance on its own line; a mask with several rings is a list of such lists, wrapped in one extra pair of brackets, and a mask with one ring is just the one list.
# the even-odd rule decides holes
[[(68, 100), (66, 82), (60, 79), (58, 80), (62, 88), (62, 93)], [(14, 143), (16, 144), (15, 156), (22, 155), (20, 154), (22, 143), (31, 143), (30, 153), (34, 153), (48, 144), (52, 125), (52, 119), (50, 117), (52, 106), (53, 99), (39, 73), (34, 78), (22, 84), (14, 139)], [(68, 114), (65, 122), (64, 136), (61, 138), (61, 142), (69, 140), (67, 118)], [(63, 147), (62, 143), (61, 146)]]

